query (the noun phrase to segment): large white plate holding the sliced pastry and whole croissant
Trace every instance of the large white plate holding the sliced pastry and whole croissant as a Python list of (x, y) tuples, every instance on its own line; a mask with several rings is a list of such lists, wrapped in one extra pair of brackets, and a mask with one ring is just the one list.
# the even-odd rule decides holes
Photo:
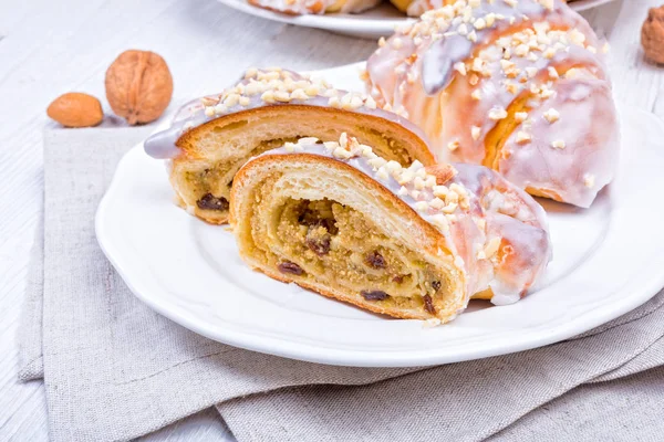
[[(359, 66), (321, 74), (357, 90)], [(232, 346), (364, 367), (428, 366), (556, 343), (641, 305), (664, 286), (664, 128), (623, 107), (619, 178), (589, 210), (543, 201), (553, 255), (521, 302), (476, 303), (453, 323), (378, 317), (245, 267), (227, 228), (173, 203), (164, 165), (142, 146), (120, 162), (96, 215), (106, 256), (147, 305)]]

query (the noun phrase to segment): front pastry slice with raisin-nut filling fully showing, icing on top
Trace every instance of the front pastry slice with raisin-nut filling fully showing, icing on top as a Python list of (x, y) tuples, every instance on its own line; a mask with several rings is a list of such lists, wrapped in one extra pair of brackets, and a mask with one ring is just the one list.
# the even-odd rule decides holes
[(523, 296), (550, 259), (541, 207), (481, 166), (407, 168), (355, 138), (302, 138), (236, 175), (240, 256), (268, 276), (400, 318)]

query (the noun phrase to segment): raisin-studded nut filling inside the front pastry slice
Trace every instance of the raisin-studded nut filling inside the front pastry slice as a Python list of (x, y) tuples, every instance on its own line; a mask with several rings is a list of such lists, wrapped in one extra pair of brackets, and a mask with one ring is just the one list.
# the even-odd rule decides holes
[(282, 274), (325, 281), (385, 307), (435, 315), (446, 303), (445, 275), (350, 207), (287, 199), (274, 201), (269, 219), (269, 243), (255, 246)]

